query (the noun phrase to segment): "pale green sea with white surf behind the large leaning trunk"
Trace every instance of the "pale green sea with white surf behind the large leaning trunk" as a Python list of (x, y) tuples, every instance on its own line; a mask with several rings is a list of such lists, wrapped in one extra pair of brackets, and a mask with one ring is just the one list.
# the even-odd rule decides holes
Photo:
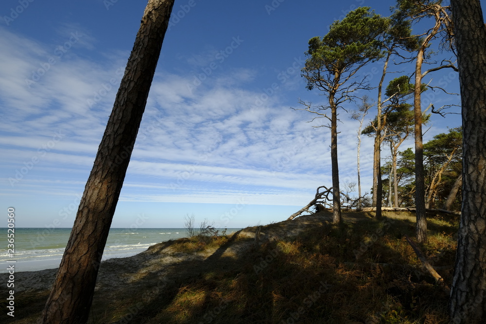
[[(222, 233), (225, 229), (218, 229)], [(228, 228), (226, 234), (240, 230)], [(0, 273), (15, 263), (15, 272), (58, 268), (70, 228), (15, 228), (14, 251), (7, 241), (7, 228), (0, 228)], [(9, 232), (11, 233), (11, 231)], [(186, 228), (110, 228), (102, 261), (113, 257), (134, 256), (148, 247), (170, 239), (187, 237)], [(3, 241), (3, 242), (2, 242)]]

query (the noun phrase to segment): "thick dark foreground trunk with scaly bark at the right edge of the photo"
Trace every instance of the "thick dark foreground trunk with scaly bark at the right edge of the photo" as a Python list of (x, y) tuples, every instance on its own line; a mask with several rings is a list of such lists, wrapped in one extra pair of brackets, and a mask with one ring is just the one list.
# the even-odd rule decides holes
[(463, 198), (449, 310), (486, 323), (486, 31), (479, 0), (451, 0), (463, 127)]

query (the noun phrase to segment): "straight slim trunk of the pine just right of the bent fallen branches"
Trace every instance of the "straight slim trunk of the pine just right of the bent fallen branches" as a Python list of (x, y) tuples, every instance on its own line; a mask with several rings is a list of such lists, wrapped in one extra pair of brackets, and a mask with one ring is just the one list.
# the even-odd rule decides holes
[(337, 159), (337, 107), (330, 96), (331, 105), (331, 169), (332, 169), (332, 222), (341, 222), (341, 197), (339, 191), (339, 167)]

